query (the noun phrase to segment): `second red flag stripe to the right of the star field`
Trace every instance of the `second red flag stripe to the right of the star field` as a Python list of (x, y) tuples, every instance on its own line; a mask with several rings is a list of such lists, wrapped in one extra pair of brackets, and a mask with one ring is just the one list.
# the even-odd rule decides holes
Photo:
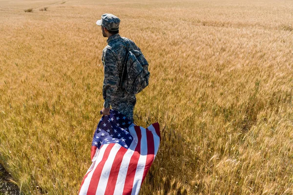
[(143, 175), (142, 183), (144, 182), (146, 178), (146, 174), (154, 161), (155, 157), (155, 142), (154, 142), (154, 136), (151, 131), (149, 131), (146, 128), (146, 140), (147, 140), (147, 156), (146, 156), (146, 165), (145, 165), (145, 171)]

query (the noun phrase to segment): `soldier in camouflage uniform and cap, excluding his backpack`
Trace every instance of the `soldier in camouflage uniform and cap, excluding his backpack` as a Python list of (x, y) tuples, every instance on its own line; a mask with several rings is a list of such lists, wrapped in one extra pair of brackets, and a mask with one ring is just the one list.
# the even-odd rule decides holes
[[(104, 37), (107, 37), (108, 45), (103, 49), (102, 62), (104, 65), (103, 115), (110, 115), (110, 106), (125, 115), (133, 122), (133, 109), (136, 103), (134, 94), (126, 92), (119, 86), (122, 77), (123, 64), (127, 54), (126, 41), (130, 49), (139, 50), (135, 43), (119, 35), (120, 19), (112, 14), (102, 15), (102, 19), (96, 22), (101, 26)], [(129, 49), (129, 48), (128, 48)]]

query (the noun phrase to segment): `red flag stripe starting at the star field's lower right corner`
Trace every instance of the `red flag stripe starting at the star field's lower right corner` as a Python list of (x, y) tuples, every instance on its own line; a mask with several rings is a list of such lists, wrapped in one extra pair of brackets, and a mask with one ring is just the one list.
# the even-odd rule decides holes
[(127, 152), (127, 149), (124, 147), (121, 147), (115, 156), (114, 162), (111, 167), (107, 187), (105, 190), (105, 195), (113, 195), (114, 194), (115, 185), (117, 182), (120, 166), (122, 163), (123, 156), (125, 155), (126, 152)]

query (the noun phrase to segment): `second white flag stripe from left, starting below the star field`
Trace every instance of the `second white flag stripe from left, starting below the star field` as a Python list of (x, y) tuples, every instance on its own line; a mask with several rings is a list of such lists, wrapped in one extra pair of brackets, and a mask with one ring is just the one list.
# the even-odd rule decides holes
[(115, 143), (115, 145), (111, 149), (110, 154), (108, 156), (108, 159), (105, 161), (105, 165), (104, 165), (102, 173), (101, 173), (101, 177), (100, 177), (100, 180), (99, 180), (96, 195), (104, 195), (105, 194), (105, 190), (106, 190), (106, 187), (107, 187), (107, 183), (108, 183), (109, 175), (110, 175), (110, 172), (111, 172), (112, 164), (114, 162), (114, 159), (116, 157), (117, 152), (119, 151), (119, 149), (121, 147), (122, 146), (120, 144)]

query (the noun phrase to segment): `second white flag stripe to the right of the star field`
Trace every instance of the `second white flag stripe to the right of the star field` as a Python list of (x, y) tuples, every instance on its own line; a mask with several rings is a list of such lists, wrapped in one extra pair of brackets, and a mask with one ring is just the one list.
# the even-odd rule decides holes
[(142, 184), (143, 176), (144, 176), (145, 166), (146, 166), (146, 156), (147, 156), (146, 129), (143, 127), (140, 127), (140, 129), (142, 132), (141, 152), (140, 152), (140, 156), (139, 156), (137, 167), (136, 167), (131, 195), (138, 195), (141, 184)]

